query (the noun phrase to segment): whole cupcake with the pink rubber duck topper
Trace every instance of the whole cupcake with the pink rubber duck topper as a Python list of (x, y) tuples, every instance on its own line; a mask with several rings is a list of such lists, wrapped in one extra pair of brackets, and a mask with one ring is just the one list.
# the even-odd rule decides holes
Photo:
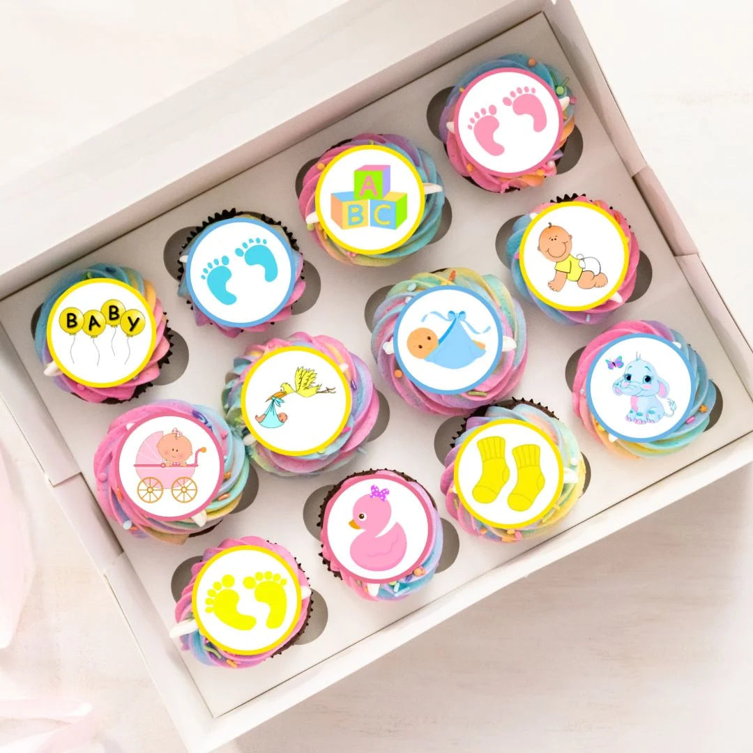
[(398, 471), (361, 471), (322, 505), (322, 559), (358, 596), (404, 599), (424, 587), (442, 553), (442, 520), (431, 495)]

